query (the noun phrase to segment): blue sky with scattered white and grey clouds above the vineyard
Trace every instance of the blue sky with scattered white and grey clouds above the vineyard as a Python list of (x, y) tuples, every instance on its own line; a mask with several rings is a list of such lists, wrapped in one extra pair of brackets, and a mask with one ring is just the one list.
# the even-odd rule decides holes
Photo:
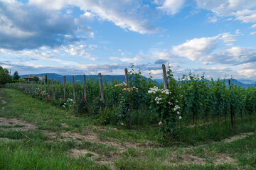
[(0, 0), (0, 65), (21, 74), (192, 72), (256, 81), (255, 0)]

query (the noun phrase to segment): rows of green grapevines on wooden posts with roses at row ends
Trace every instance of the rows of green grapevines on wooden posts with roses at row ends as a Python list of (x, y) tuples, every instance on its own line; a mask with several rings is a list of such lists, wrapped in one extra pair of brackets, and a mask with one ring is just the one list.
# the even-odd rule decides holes
[(186, 137), (186, 127), (213, 130), (226, 125), (230, 130), (250, 125), (255, 120), (256, 88), (245, 89), (226, 86), (218, 79), (208, 80), (204, 75), (189, 73), (174, 79), (171, 69), (163, 64), (164, 82), (159, 84), (151, 77), (144, 79), (133, 68), (124, 70), (126, 82), (116, 80), (65, 82), (50, 79), (7, 84), (9, 89), (18, 89), (41, 101), (58, 106), (77, 115), (88, 115), (102, 125), (118, 125), (132, 129), (133, 126), (153, 125), (159, 127), (161, 140), (170, 141)]

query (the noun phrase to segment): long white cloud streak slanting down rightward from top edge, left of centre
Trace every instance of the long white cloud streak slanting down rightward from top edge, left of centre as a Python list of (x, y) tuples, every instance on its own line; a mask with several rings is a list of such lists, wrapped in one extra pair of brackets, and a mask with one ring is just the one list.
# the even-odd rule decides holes
[(68, 5), (78, 6), (85, 11), (82, 17), (91, 18), (97, 16), (100, 20), (111, 21), (116, 26), (138, 33), (156, 33), (159, 28), (152, 25), (150, 18), (146, 18), (146, 5), (137, 0), (30, 0), (29, 4), (46, 8), (47, 10), (60, 10)]

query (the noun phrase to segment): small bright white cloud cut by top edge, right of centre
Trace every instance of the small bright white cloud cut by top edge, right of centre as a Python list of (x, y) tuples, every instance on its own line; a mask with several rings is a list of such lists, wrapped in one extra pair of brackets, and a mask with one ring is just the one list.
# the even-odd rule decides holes
[[(158, 8), (169, 15), (174, 15), (178, 13), (178, 11), (180, 11), (184, 3), (185, 0), (165, 0), (164, 4), (162, 6), (159, 6)], [(155, 4), (159, 4), (159, 1), (155, 1)]]

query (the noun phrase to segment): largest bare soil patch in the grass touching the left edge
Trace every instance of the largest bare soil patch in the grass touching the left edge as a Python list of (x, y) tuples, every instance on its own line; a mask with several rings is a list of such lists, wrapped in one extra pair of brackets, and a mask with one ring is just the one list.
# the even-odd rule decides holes
[(8, 127), (15, 130), (30, 130), (30, 129), (36, 129), (36, 125), (33, 125), (31, 123), (27, 123), (23, 120), (18, 120), (15, 118), (7, 119), (7, 118), (0, 118), (0, 128)]

